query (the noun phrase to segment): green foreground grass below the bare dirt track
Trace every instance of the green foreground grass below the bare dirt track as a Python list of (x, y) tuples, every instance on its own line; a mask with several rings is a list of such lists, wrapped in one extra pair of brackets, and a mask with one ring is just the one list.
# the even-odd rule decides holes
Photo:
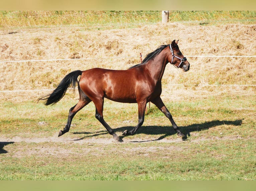
[[(173, 146), (178, 150), (170, 150)], [(49, 143), (13, 143), (14, 151), (47, 147)], [(0, 180), (255, 180), (255, 145), (248, 140), (182, 143), (133, 143), (93, 145), (96, 150), (82, 154), (81, 145), (55, 144), (75, 154), (1, 157)], [(163, 147), (146, 155), (143, 147)], [(83, 145), (85, 150), (88, 145)], [(97, 152), (97, 148), (101, 150)], [(125, 148), (129, 151), (124, 152)], [(138, 148), (140, 147), (140, 148)], [(243, 149), (240, 149), (240, 148)], [(26, 150), (26, 149), (25, 149)]]

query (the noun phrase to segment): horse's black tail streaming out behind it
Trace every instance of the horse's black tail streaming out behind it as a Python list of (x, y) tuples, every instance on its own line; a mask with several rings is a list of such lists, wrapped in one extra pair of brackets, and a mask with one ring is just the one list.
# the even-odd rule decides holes
[(76, 87), (76, 83), (78, 83), (77, 78), (80, 75), (82, 75), (82, 71), (80, 70), (69, 73), (61, 80), (58, 87), (51, 94), (45, 95), (38, 100), (46, 100), (45, 105), (57, 103), (65, 95), (70, 86), (72, 86), (72, 88)]

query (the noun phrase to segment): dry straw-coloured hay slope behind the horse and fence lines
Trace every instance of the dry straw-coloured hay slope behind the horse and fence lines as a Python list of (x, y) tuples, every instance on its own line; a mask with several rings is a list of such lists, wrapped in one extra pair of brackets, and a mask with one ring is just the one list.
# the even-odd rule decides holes
[[(181, 92), (187, 90), (190, 95), (193, 91), (196, 92), (194, 94), (198, 94), (198, 91), (204, 94), (205, 91), (213, 93), (216, 87), (184, 87), (182, 84), (256, 83), (255, 58), (189, 57), (256, 55), (256, 25), (159, 23), (103, 31), (61, 26), (0, 31), (0, 60), (93, 59), (1, 63), (0, 91), (53, 89), (67, 73), (77, 69), (102, 67), (124, 70), (140, 63), (140, 53), (144, 57), (174, 39), (180, 40), (180, 50), (187, 56), (191, 68), (188, 73), (183, 73), (167, 65), (163, 77), (166, 91), (174, 88)], [(255, 87), (218, 87), (215, 94), (227, 90), (252, 94)], [(27, 100), (35, 99), (38, 95), (41, 92), (1, 92), (0, 99)]]

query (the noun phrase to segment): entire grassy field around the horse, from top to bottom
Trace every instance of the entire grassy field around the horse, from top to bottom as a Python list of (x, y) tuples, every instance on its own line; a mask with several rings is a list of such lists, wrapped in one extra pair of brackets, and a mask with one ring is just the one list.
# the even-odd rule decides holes
[[(159, 16), (0, 12), (0, 180), (256, 180), (255, 12)], [(186, 139), (151, 104), (137, 134), (113, 143), (93, 103), (57, 137), (78, 93), (53, 106), (38, 97), (73, 70), (127, 69), (174, 39), (190, 71), (167, 65), (162, 99)], [(136, 104), (105, 100), (119, 135), (137, 115)]]

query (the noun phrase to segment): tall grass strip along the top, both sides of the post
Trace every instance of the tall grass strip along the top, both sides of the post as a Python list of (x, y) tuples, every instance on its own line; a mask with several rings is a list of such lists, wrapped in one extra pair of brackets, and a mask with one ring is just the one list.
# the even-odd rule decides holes
[[(254, 23), (256, 11), (170, 11), (169, 20)], [(1, 28), (79, 25), (87, 27), (120, 27), (161, 22), (161, 11), (0, 11)]]

